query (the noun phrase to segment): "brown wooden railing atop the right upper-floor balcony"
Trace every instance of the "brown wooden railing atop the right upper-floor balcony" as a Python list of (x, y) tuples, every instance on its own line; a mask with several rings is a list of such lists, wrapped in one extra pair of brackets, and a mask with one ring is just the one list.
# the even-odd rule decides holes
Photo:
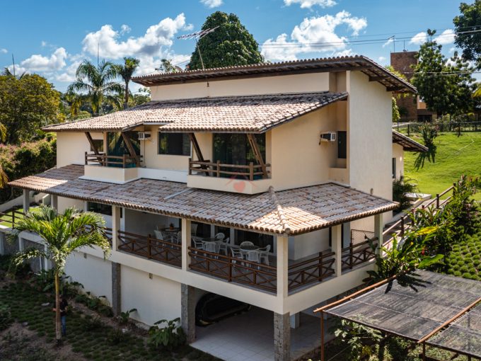
[[(266, 168), (265, 172), (263, 168)], [(253, 181), (257, 178), (266, 178), (265, 174), (269, 174), (270, 164), (265, 164), (264, 166), (260, 164), (254, 164), (250, 162), (248, 165), (238, 165), (238, 164), (223, 164), (221, 161), (211, 162), (211, 161), (192, 161), (189, 159), (189, 174), (196, 172), (197, 174), (204, 174), (204, 176), (211, 177), (242, 177), (243, 179), (249, 179)]]

